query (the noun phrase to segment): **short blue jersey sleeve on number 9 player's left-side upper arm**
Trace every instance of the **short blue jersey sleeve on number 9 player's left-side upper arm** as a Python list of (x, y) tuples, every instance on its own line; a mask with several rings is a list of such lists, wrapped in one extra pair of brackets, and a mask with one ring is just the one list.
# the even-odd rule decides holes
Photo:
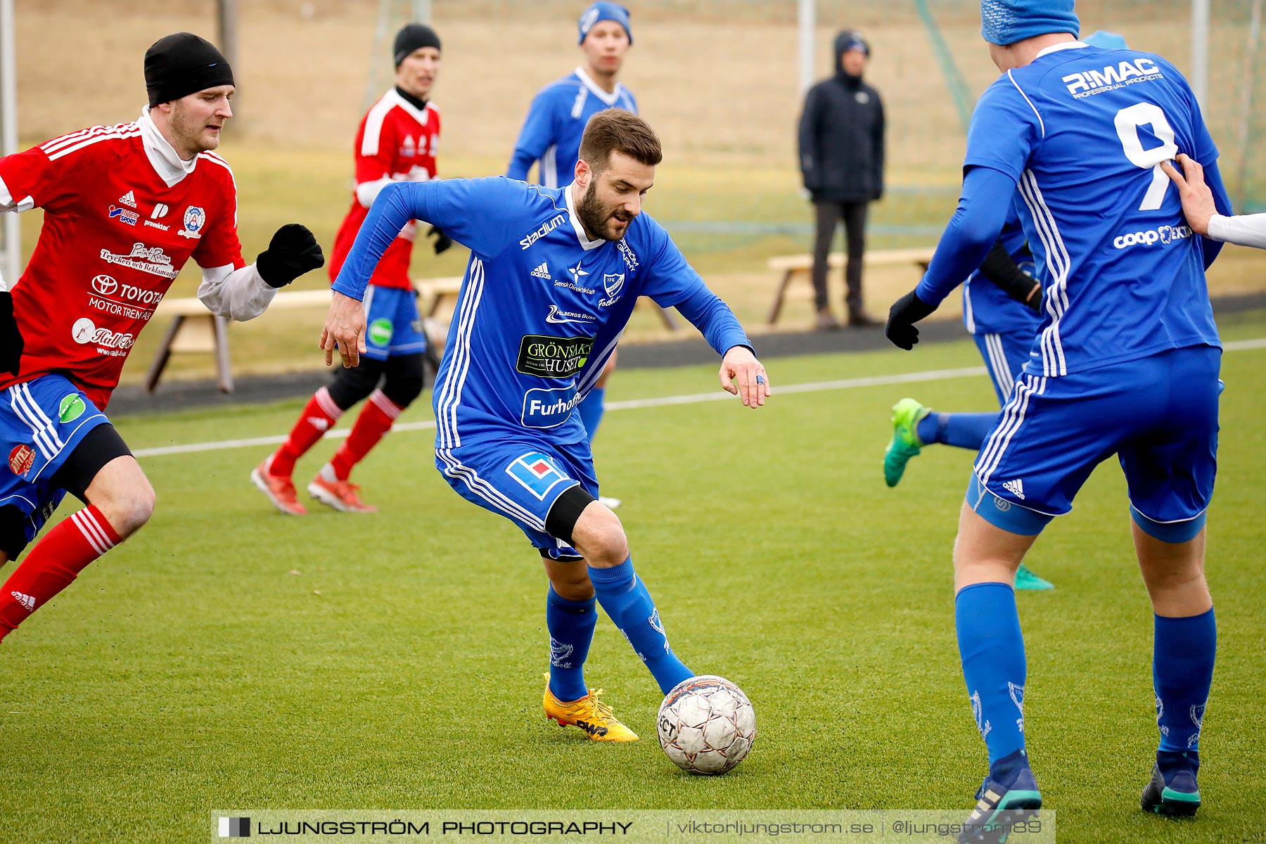
[(967, 129), (963, 168), (990, 167), (1020, 181), (1029, 153), (1041, 143), (1046, 128), (1032, 100), (1010, 73), (989, 86), (976, 104)]

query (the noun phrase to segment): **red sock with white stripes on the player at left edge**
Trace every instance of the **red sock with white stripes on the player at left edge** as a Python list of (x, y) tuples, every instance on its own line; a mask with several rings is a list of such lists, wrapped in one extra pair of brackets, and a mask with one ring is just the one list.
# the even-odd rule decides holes
[(44, 534), (0, 590), (0, 639), (119, 542), (119, 534), (92, 505)]

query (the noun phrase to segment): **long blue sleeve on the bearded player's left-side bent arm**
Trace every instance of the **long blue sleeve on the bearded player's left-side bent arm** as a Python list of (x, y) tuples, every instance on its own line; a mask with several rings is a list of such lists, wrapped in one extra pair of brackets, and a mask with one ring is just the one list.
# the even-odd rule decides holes
[(370, 206), (334, 290), (362, 299), (379, 259), (409, 220), (430, 223), (475, 254), (492, 258), (517, 238), (533, 196), (532, 187), (500, 176), (391, 182)]

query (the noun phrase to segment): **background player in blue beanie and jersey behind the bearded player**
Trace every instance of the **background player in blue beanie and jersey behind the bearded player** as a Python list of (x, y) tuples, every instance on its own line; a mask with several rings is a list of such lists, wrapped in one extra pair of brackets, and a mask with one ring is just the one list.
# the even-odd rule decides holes
[[(532, 100), (528, 118), (514, 144), (514, 156), (505, 175), (528, 181), (537, 167), (537, 181), (546, 187), (561, 187), (571, 181), (580, 152), (585, 124), (604, 109), (624, 109), (637, 114), (637, 100), (617, 81), (624, 56), (633, 46), (629, 10), (617, 3), (599, 0), (585, 9), (576, 22), (585, 63), (547, 85)], [(617, 353), (606, 361), (598, 383), (576, 407), (585, 433), (592, 440), (606, 409), (606, 381), (615, 369)], [(603, 496), (603, 504), (617, 507), (619, 499)]]

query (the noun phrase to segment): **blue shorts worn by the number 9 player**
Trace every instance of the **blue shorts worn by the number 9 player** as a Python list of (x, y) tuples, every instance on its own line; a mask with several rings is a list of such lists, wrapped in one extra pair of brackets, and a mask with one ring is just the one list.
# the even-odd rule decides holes
[(1220, 364), (1222, 349), (1198, 345), (1057, 378), (1020, 376), (976, 458), (968, 505), (1003, 529), (1038, 533), (1015, 530), (1008, 511), (1028, 511), (1034, 525), (1069, 512), (1095, 466), (1117, 454), (1144, 520), (1201, 519), (1218, 469)]

